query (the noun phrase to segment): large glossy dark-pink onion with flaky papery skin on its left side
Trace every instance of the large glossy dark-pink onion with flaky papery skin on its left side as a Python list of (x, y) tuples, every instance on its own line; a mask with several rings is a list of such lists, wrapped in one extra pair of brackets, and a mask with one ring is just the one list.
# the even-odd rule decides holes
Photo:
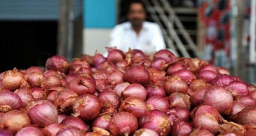
[(101, 103), (98, 97), (91, 94), (81, 95), (73, 105), (73, 116), (87, 121), (96, 118), (101, 111)]

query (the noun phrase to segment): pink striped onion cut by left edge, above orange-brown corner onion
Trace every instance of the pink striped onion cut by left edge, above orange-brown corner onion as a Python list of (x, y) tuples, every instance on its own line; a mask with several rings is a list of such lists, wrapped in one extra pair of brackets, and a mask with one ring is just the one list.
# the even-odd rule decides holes
[(21, 107), (21, 104), (21, 99), (17, 94), (11, 91), (0, 93), (0, 112), (17, 110)]

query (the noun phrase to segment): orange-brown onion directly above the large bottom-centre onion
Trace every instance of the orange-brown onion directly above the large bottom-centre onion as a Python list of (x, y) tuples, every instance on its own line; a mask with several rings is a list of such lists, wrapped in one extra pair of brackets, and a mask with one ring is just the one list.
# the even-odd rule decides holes
[(147, 111), (147, 104), (143, 101), (143, 99), (131, 96), (126, 98), (121, 103), (119, 110), (127, 111), (139, 119)]

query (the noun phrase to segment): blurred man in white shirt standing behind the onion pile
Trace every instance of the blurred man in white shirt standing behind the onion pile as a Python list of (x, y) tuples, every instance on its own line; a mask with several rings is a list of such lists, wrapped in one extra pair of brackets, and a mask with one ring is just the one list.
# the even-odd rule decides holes
[(126, 52), (128, 48), (140, 49), (145, 54), (166, 48), (160, 27), (156, 23), (146, 22), (145, 5), (140, 0), (131, 0), (127, 14), (128, 22), (113, 28), (110, 34), (110, 46)]

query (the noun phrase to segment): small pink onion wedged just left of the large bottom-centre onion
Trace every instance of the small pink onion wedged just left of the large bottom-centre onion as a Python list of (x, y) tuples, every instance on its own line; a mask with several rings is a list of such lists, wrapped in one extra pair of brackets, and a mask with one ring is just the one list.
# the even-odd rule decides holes
[(105, 130), (109, 129), (109, 122), (111, 120), (111, 114), (109, 113), (103, 113), (102, 115), (98, 116), (96, 119), (93, 121), (93, 127), (99, 127), (103, 128)]

